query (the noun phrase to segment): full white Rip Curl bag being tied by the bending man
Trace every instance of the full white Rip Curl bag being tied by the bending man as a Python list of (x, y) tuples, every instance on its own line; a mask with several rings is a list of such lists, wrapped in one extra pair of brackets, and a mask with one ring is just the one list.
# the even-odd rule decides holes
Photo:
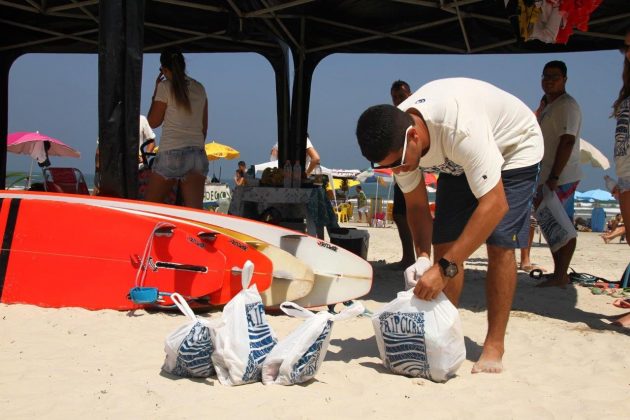
[(457, 308), (443, 293), (420, 300), (413, 290), (372, 316), (381, 360), (393, 373), (446, 382), (466, 358)]

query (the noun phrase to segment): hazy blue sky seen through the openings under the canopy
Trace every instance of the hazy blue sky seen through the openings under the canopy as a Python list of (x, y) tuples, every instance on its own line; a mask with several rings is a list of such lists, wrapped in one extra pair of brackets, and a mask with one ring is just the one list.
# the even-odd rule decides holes
[[(241, 152), (247, 164), (266, 162), (277, 141), (274, 73), (254, 53), (187, 54), (188, 74), (208, 95), (208, 137)], [(315, 69), (308, 132), (328, 168), (365, 169), (354, 130), (369, 106), (390, 103), (389, 88), (402, 79), (415, 90), (431, 80), (471, 77), (490, 82), (535, 109), (542, 96), (544, 64), (563, 60), (568, 67), (567, 92), (582, 109), (581, 136), (610, 160), (611, 169), (584, 166), (578, 190), (604, 188), (603, 176), (614, 177), (612, 161), (615, 121), (611, 104), (621, 87), (623, 56), (619, 51), (519, 55), (335, 54)], [(146, 54), (141, 112), (149, 111), (159, 55)], [(9, 75), (9, 133), (39, 131), (81, 152), (80, 159), (51, 158), (55, 166), (94, 172), (98, 136), (98, 56), (28, 54)], [(156, 130), (158, 140), (159, 129)], [(31, 159), (9, 153), (7, 171), (28, 172)], [(37, 168), (37, 165), (35, 165)], [(236, 161), (216, 161), (210, 174), (230, 177)]]

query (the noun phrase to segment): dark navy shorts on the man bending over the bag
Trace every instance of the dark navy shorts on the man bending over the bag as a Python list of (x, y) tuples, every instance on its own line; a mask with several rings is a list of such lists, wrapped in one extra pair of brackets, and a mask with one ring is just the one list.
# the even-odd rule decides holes
[[(509, 210), (486, 239), (488, 245), (511, 249), (527, 248), (531, 206), (539, 171), (539, 164), (501, 171)], [(435, 199), (433, 243), (443, 244), (457, 240), (477, 208), (477, 203), (466, 176), (440, 174)]]

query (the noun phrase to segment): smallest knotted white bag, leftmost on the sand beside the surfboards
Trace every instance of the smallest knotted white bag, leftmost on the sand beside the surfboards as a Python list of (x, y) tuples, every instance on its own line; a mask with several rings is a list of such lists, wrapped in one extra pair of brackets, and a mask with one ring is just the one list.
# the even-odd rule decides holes
[(214, 375), (210, 322), (198, 318), (179, 293), (173, 293), (171, 299), (190, 318), (190, 322), (177, 328), (164, 340), (166, 359), (162, 370), (186, 378)]

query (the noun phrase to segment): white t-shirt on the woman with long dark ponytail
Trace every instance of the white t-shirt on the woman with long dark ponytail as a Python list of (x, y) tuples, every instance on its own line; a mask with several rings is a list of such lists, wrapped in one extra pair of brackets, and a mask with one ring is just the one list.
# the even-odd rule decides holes
[(180, 109), (171, 94), (171, 81), (164, 80), (158, 84), (155, 100), (166, 103), (166, 113), (162, 125), (160, 151), (181, 149), (183, 147), (203, 147), (203, 111), (206, 103), (206, 90), (194, 79), (188, 82), (188, 98), (191, 112)]

